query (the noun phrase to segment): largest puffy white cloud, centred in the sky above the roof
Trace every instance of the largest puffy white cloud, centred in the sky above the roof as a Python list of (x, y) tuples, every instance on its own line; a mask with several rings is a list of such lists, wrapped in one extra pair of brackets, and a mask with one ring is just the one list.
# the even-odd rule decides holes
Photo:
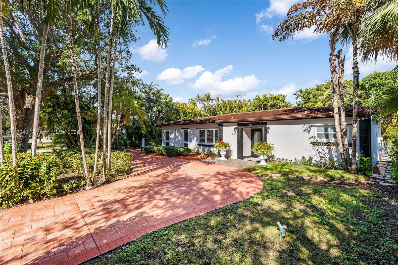
[(227, 65), (214, 73), (206, 71), (190, 86), (194, 89), (207, 90), (212, 94), (226, 94), (252, 90), (261, 82), (254, 74), (244, 77), (236, 76), (222, 81), (222, 77), (228, 74), (232, 68), (232, 65)]

